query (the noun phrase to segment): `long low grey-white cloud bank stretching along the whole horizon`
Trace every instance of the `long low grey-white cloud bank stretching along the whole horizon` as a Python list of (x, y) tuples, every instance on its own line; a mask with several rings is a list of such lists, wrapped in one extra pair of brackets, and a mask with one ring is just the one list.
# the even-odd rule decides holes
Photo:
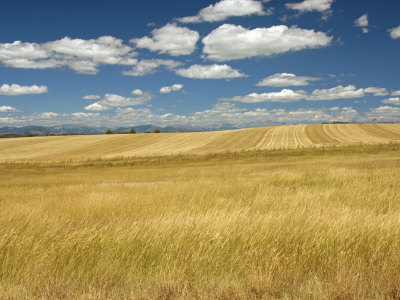
[(120, 127), (135, 124), (154, 124), (156, 126), (194, 126), (210, 129), (220, 128), (226, 124), (232, 127), (255, 127), (280, 124), (323, 123), (332, 121), (356, 122), (368, 120), (400, 120), (400, 107), (381, 106), (365, 114), (359, 114), (352, 107), (300, 108), (287, 109), (248, 109), (236, 106), (236, 103), (218, 102), (209, 109), (200, 110), (188, 115), (173, 113), (156, 113), (149, 108), (121, 107), (115, 113), (59, 114), (45, 112), (32, 115), (0, 117), (1, 125), (26, 126), (42, 124), (43, 126), (62, 125), (73, 122), (86, 126)]

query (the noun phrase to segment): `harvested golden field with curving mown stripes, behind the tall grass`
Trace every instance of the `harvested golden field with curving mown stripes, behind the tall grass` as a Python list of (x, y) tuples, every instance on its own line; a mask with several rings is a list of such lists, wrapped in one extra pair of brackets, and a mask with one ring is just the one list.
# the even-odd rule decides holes
[(400, 124), (324, 124), (137, 135), (0, 139), (1, 160), (83, 160), (400, 141)]

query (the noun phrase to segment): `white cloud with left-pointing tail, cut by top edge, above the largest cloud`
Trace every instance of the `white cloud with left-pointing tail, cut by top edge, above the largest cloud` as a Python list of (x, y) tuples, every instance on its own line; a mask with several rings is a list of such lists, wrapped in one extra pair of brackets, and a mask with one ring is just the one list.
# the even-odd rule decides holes
[(182, 23), (218, 22), (229, 17), (262, 16), (265, 14), (261, 2), (255, 0), (222, 0), (199, 11), (196, 16), (178, 19)]

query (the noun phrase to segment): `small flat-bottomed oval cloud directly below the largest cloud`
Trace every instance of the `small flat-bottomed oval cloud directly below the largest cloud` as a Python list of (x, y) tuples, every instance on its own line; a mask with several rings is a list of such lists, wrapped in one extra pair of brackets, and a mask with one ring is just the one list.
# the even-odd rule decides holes
[(187, 69), (178, 69), (176, 74), (197, 79), (229, 79), (245, 77), (246, 75), (228, 65), (192, 65)]

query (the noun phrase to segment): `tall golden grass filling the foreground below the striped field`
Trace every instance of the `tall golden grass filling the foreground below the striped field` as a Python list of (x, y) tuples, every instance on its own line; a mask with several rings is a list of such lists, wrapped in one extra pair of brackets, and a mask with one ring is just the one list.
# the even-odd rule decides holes
[(0, 298), (399, 299), (400, 145), (0, 165)]

